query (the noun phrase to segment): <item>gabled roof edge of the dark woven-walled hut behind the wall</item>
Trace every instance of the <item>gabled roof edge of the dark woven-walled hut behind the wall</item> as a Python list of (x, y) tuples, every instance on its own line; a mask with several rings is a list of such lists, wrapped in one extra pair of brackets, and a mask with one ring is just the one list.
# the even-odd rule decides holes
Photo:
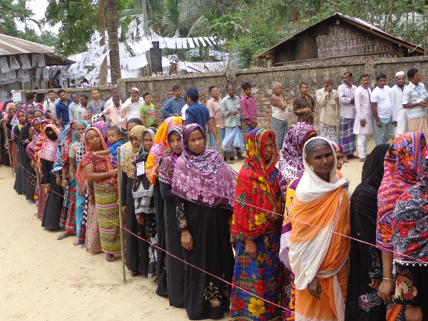
[(275, 51), (275, 49), (277, 48), (277, 46), (285, 44), (287, 41), (295, 39), (296, 36), (300, 36), (300, 34), (303, 34), (303, 33), (307, 32), (307, 31), (309, 31), (310, 29), (312, 29), (312, 28), (314, 28), (316, 26), (319, 26), (324, 21), (327, 21), (327, 20), (333, 19), (333, 18), (342, 19), (343, 21), (347, 21), (350, 24), (358, 26), (358, 27), (360, 27), (361, 29), (363, 29), (363, 30), (365, 30), (367, 32), (370, 32), (372, 34), (376, 34), (377, 36), (380, 36), (380, 37), (382, 37), (384, 39), (392, 41), (395, 44), (399, 44), (400, 46), (404, 46), (405, 48), (410, 49), (412, 51), (416, 51), (419, 54), (424, 54), (424, 48), (421, 47), (421, 46), (417, 46), (417, 45), (411, 44), (408, 41), (404, 41), (403, 39), (399, 39), (399, 38), (397, 38), (395, 36), (387, 34), (385, 31), (383, 31), (383, 30), (381, 30), (381, 29), (379, 29), (379, 28), (377, 28), (375, 26), (372, 26), (371, 24), (369, 24), (366, 21), (363, 21), (363, 20), (361, 20), (359, 18), (354, 18), (352, 16), (346, 16), (345, 14), (337, 13), (337, 14), (333, 14), (332, 16), (329, 16), (326, 19), (323, 19), (320, 22), (317, 22), (317, 24), (313, 24), (312, 26), (307, 27), (306, 29), (298, 32), (294, 36), (291, 36), (290, 38), (285, 39), (284, 41), (281, 41), (279, 44), (276, 44), (275, 46), (270, 47), (270, 49), (267, 49), (267, 50), (261, 52), (260, 54), (254, 56), (252, 60), (255, 60), (255, 59), (264, 59), (265, 56), (267, 56), (268, 54), (272, 54), (272, 52)]

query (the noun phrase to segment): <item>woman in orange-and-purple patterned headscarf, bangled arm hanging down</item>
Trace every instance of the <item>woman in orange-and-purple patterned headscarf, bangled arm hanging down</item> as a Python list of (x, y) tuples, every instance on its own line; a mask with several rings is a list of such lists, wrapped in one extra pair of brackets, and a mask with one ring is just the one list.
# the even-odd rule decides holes
[[(379, 296), (393, 303), (395, 284), (392, 275), (393, 250), (392, 213), (399, 195), (417, 180), (417, 168), (422, 149), (427, 145), (423, 133), (403, 133), (392, 141), (384, 161), (384, 175), (377, 193), (376, 245), (382, 250), (383, 278)], [(396, 320), (401, 306), (389, 307), (387, 320)]]

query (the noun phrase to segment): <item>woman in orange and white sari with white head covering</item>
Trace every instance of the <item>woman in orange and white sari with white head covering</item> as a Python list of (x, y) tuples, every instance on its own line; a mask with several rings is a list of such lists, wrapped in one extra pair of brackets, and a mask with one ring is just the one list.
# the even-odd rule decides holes
[(295, 274), (295, 320), (345, 320), (349, 274), (349, 181), (336, 169), (332, 144), (305, 144), (305, 173), (295, 192), (288, 243)]

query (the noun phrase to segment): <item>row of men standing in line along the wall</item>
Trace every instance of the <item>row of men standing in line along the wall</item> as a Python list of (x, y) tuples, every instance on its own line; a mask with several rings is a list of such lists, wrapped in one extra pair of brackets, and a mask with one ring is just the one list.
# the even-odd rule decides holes
[[(292, 112), (297, 121), (313, 124), (317, 103), (320, 106), (320, 136), (338, 141), (343, 146), (345, 162), (354, 157), (357, 148), (358, 157), (364, 162), (367, 158), (367, 142), (372, 133), (376, 145), (386, 143), (393, 136), (397, 137), (407, 131), (428, 133), (428, 95), (423, 83), (419, 82), (419, 72), (416, 68), (409, 69), (408, 82), (404, 71), (397, 72), (395, 77), (397, 83), (390, 88), (387, 86), (387, 76), (378, 73), (375, 77), (376, 86), (372, 90), (369, 74), (363, 73), (360, 76), (360, 86), (357, 87), (353, 84), (354, 75), (347, 71), (342, 76), (343, 83), (335, 90), (332, 88), (332, 78), (325, 76), (324, 86), (313, 97), (308, 93), (308, 83), (302, 82), (299, 86), (300, 93), (292, 102)], [(194, 87), (189, 88), (190, 93), (199, 93), (198, 101), (192, 101), (190, 95), (182, 96), (182, 88), (175, 85), (168, 90), (161, 114), (163, 119), (182, 116), (184, 122), (199, 123), (207, 128), (209, 146), (214, 149), (221, 147), (216, 130), (216, 126), (220, 126), (222, 141), (228, 135), (233, 136), (226, 139), (230, 142), (228, 146), (223, 146), (225, 158), (231, 163), (235, 156), (243, 159), (243, 142), (250, 130), (258, 126), (259, 115), (250, 83), (241, 85), (242, 98), (232, 84), (228, 84), (225, 89), (226, 96), (220, 98), (219, 87), (210, 86), (209, 97), (205, 100), (205, 93)], [(287, 134), (288, 121), (292, 121), (287, 108), (290, 99), (282, 95), (283, 89), (281, 83), (273, 83), (270, 99), (271, 126), (276, 136), (278, 152)], [(100, 113), (110, 116), (111, 123), (123, 128), (123, 131), (126, 120), (131, 118), (141, 118), (146, 127), (156, 126), (156, 108), (151, 103), (151, 93), (146, 92), (140, 96), (138, 88), (131, 89), (131, 95), (124, 103), (117, 88), (111, 89), (108, 101), (102, 101), (96, 89), (91, 91), (91, 101), (84, 93), (71, 93), (71, 98), (67, 98), (66, 91), (60, 89), (57, 94), (58, 98), (54, 90), (49, 90), (48, 99), (45, 100), (43, 93), (36, 96), (29, 93), (27, 103), (32, 103), (34, 109), (51, 111), (63, 126), (70, 121), (87, 121)], [(201, 106), (206, 108), (201, 110)], [(241, 136), (243, 139), (236, 139), (234, 136)]]

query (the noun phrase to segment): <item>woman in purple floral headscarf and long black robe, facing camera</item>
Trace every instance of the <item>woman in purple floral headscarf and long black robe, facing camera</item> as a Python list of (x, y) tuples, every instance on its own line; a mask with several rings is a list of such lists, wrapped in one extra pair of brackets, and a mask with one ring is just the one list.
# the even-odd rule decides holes
[(211, 275), (227, 282), (233, 277), (228, 220), (235, 200), (234, 175), (220, 153), (205, 148), (205, 143), (202, 127), (185, 126), (183, 153), (173, 174), (178, 231), (184, 260), (189, 263), (185, 265), (184, 303), (190, 320), (223, 317), (229, 308), (230, 286)]

